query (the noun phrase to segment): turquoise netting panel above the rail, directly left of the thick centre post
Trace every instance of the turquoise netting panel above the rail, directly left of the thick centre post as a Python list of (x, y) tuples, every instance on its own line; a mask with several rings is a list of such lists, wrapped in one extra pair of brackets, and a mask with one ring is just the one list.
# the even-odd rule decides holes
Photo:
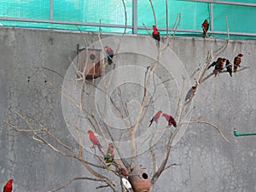
[[(54, 1), (54, 20), (125, 25), (125, 9), (122, 1), (66, 0)], [(127, 25), (131, 25), (132, 4), (125, 1)]]

